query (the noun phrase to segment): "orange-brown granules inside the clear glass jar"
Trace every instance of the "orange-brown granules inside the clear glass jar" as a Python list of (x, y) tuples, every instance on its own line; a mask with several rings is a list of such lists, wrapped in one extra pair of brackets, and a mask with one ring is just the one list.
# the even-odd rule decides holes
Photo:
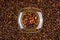
[(22, 24), (26, 28), (36, 28), (39, 23), (39, 18), (37, 13), (26, 12), (22, 17)]

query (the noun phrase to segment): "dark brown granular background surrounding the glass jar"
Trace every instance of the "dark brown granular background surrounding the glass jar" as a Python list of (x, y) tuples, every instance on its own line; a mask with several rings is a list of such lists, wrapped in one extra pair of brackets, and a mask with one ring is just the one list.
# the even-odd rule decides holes
[[(17, 19), (24, 7), (42, 10), (38, 33), (21, 33)], [(0, 40), (60, 40), (60, 0), (0, 0)]]

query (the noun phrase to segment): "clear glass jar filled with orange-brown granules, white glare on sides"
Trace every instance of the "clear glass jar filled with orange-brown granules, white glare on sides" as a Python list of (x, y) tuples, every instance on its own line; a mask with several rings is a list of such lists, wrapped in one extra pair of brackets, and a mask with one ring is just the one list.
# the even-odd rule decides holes
[(20, 10), (18, 24), (23, 33), (39, 32), (43, 25), (42, 10), (35, 7), (26, 7)]

